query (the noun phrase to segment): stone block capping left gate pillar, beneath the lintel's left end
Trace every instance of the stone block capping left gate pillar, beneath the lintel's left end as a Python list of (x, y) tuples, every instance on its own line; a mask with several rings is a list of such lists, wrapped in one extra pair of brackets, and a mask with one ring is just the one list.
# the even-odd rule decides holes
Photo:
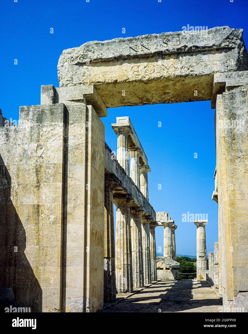
[(66, 103), (85, 101), (91, 105), (99, 117), (107, 116), (100, 95), (94, 85), (80, 85), (72, 87), (54, 87), (53, 85), (41, 86), (41, 104)]

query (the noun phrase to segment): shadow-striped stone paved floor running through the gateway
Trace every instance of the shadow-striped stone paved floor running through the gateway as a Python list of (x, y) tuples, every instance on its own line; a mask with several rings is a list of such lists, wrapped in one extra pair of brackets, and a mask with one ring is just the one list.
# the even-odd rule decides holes
[(159, 281), (100, 312), (222, 312), (206, 281)]

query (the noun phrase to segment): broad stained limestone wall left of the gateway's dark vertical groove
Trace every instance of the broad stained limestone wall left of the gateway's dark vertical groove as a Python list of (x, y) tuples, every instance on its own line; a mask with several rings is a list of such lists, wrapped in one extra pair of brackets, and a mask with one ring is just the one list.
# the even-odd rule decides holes
[(0, 127), (1, 295), (10, 290), (6, 306), (14, 295), (31, 312), (59, 312), (65, 106), (20, 107), (20, 121)]

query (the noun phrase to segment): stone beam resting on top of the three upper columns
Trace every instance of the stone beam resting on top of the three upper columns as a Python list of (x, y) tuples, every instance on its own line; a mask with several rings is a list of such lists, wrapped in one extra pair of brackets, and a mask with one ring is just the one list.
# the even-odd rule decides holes
[(128, 136), (128, 148), (129, 149), (134, 149), (134, 148), (139, 149), (141, 151), (141, 155), (139, 157), (140, 166), (148, 165), (147, 156), (134, 130), (134, 127), (132, 125), (130, 118), (128, 116), (116, 117), (116, 123), (111, 124), (111, 125), (116, 134), (117, 134), (118, 128), (121, 126), (125, 126), (131, 130)]

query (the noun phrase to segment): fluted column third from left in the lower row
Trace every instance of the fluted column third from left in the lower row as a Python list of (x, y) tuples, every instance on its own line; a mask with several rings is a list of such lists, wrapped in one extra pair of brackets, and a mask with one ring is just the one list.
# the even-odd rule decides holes
[(131, 209), (131, 238), (134, 288), (144, 287), (143, 246), (141, 230), (141, 215), (143, 213), (144, 211), (141, 209)]

